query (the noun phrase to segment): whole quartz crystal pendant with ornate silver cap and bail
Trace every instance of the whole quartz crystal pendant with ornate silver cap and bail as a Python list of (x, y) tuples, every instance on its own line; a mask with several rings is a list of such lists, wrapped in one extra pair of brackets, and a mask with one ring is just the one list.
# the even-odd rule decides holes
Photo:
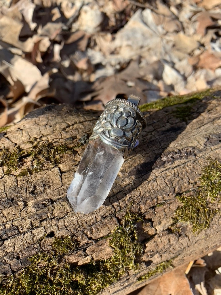
[(130, 95), (128, 100), (113, 99), (105, 105), (67, 190), (75, 211), (92, 212), (108, 196), (125, 158), (146, 126), (144, 114), (137, 106), (139, 101), (139, 97)]

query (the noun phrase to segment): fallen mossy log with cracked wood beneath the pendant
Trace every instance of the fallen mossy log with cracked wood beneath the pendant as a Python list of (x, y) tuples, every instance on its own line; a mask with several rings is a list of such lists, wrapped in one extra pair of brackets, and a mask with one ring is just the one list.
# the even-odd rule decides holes
[(0, 130), (0, 294), (128, 294), (221, 245), (221, 91), (142, 106), (103, 206), (66, 198), (98, 112), (51, 105)]

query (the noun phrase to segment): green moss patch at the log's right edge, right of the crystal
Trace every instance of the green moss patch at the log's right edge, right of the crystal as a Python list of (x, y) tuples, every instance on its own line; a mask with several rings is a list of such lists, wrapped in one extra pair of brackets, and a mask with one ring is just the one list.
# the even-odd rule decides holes
[(211, 160), (202, 172), (200, 185), (195, 191), (188, 191), (177, 196), (182, 205), (176, 210), (172, 230), (179, 230), (176, 228), (177, 223), (188, 222), (192, 224), (193, 232), (200, 232), (210, 226), (213, 217), (217, 214), (217, 209), (212, 206), (212, 203), (221, 200), (220, 161)]

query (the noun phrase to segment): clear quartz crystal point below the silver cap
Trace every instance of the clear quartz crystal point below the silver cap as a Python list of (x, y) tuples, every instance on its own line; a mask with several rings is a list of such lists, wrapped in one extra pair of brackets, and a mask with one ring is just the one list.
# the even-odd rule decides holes
[(123, 162), (122, 151), (100, 138), (90, 141), (67, 190), (72, 208), (83, 213), (98, 209), (108, 196)]

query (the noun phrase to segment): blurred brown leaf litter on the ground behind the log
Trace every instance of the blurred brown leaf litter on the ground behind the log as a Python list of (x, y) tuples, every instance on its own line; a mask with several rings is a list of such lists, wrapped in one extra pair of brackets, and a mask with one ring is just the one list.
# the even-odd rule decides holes
[(103, 109), (221, 84), (220, 1), (4, 0), (0, 126), (47, 103)]

